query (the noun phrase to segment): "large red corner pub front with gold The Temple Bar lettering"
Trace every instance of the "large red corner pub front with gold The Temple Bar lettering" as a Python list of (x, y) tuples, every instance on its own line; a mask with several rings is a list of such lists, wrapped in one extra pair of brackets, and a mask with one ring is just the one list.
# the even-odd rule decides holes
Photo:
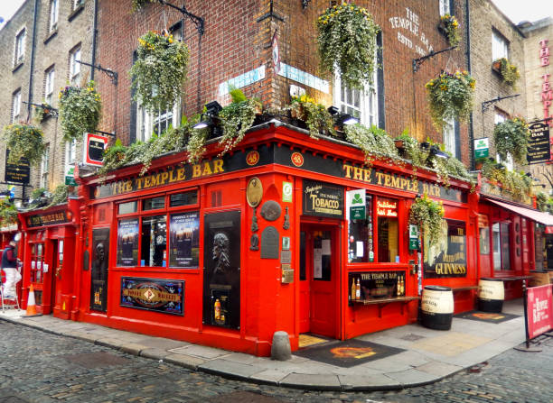
[[(469, 184), (366, 166), (351, 144), (286, 125), (219, 151), (79, 179), (90, 259), (77, 259), (77, 320), (269, 355), (278, 330), (296, 350), (300, 334), (343, 340), (414, 322), (426, 284), (467, 288), (455, 311), (473, 308)], [(447, 225), (419, 253), (408, 209), (423, 193), (444, 202)]]

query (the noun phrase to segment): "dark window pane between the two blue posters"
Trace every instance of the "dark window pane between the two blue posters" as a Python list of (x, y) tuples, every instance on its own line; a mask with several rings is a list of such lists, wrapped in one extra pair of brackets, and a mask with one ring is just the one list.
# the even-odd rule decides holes
[(167, 219), (165, 215), (155, 215), (142, 219), (141, 266), (165, 267), (167, 247)]

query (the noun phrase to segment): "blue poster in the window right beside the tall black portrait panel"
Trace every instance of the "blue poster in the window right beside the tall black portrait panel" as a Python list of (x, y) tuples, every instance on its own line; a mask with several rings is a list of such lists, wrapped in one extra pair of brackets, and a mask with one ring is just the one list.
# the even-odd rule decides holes
[(171, 267), (196, 268), (200, 260), (200, 213), (171, 215)]

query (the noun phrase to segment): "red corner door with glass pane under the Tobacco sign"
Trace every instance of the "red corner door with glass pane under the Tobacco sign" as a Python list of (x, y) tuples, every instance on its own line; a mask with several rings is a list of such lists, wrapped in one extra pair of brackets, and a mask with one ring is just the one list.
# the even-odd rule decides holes
[(340, 338), (338, 227), (300, 228), (300, 333)]

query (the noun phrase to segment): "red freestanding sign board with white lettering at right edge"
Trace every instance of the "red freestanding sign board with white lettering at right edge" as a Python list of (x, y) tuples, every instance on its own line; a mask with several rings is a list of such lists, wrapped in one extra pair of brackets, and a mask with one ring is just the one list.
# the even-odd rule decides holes
[(530, 339), (544, 334), (553, 328), (553, 300), (551, 299), (553, 285), (530, 287), (527, 291), (528, 336)]

